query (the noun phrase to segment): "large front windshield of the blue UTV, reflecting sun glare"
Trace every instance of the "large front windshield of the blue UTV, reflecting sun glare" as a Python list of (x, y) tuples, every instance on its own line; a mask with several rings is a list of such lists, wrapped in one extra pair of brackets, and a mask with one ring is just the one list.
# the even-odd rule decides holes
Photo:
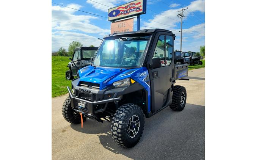
[(93, 66), (137, 68), (143, 63), (150, 36), (103, 39)]

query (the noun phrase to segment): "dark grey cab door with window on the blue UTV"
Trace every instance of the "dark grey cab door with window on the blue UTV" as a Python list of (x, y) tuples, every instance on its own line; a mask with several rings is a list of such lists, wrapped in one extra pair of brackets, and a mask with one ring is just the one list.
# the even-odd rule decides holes
[[(151, 56), (149, 57), (152, 113), (170, 105), (172, 99), (172, 83), (170, 79), (173, 77), (174, 69), (173, 35), (171, 33), (159, 33), (156, 36), (157, 38), (153, 42)], [(161, 64), (155, 65), (155, 63)]]

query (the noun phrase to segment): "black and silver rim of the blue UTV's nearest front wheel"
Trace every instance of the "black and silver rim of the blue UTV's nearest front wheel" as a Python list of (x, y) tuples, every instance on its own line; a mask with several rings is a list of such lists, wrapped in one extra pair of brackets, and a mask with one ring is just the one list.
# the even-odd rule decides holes
[(127, 124), (126, 132), (130, 138), (134, 138), (140, 129), (140, 118), (138, 115), (133, 115)]

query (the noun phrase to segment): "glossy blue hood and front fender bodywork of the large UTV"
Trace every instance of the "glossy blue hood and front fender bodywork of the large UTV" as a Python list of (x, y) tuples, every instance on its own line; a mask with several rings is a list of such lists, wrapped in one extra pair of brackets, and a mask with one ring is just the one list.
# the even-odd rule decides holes
[(125, 78), (132, 78), (140, 83), (146, 91), (148, 91), (148, 112), (151, 111), (151, 97), (150, 97), (150, 80), (146, 77), (148, 69), (146, 67), (134, 69), (119, 69), (119, 68), (106, 68), (106, 67), (93, 67), (86, 66), (79, 71), (80, 81), (92, 82), (100, 84), (100, 90), (108, 86), (112, 86), (114, 82), (123, 80)]

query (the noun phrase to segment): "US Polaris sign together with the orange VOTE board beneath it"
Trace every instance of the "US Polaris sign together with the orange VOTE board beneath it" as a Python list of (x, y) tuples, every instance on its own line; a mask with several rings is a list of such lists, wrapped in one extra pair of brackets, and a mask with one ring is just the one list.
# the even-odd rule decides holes
[[(108, 21), (121, 20), (146, 13), (146, 0), (135, 0), (120, 6), (108, 9)], [(132, 24), (131, 24), (132, 22)], [(113, 22), (111, 24), (111, 34), (133, 31), (133, 19), (123, 20), (123, 22)]]

